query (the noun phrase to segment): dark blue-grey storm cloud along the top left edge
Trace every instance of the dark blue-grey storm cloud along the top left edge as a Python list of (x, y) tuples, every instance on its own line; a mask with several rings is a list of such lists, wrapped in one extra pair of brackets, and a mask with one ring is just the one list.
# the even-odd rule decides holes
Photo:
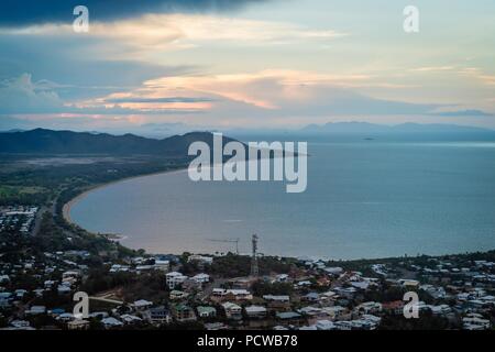
[(72, 22), (77, 6), (86, 6), (90, 19), (105, 21), (143, 13), (229, 11), (263, 1), (266, 0), (1, 0), (0, 25)]

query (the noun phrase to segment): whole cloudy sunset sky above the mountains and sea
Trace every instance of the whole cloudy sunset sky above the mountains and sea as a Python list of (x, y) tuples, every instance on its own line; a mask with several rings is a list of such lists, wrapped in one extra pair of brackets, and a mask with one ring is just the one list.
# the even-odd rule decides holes
[(493, 0), (2, 0), (0, 130), (495, 129), (494, 20)]

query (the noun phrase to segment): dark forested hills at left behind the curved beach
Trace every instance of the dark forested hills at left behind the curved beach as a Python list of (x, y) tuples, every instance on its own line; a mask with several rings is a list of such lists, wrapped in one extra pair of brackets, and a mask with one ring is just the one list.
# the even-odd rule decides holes
[[(227, 143), (231, 139), (223, 138)], [(163, 140), (134, 134), (112, 135), (97, 132), (72, 132), (36, 129), (0, 133), (0, 153), (25, 154), (147, 154), (169, 157), (187, 156), (193, 142), (212, 145), (210, 132), (191, 132)]]

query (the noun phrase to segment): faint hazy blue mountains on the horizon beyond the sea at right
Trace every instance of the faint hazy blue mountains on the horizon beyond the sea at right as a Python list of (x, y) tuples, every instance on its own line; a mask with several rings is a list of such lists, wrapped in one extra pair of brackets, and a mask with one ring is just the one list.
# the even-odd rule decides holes
[(382, 133), (483, 133), (495, 134), (494, 130), (442, 123), (402, 123), (396, 125), (376, 124), (369, 122), (329, 122), (326, 124), (309, 124), (300, 132), (307, 133), (353, 133), (353, 134), (382, 134)]

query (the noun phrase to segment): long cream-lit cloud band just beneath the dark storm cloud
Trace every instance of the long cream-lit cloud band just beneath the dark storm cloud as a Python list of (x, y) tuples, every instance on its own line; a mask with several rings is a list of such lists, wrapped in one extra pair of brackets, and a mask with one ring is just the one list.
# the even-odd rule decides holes
[[(0, 34), (15, 37), (53, 37), (72, 42), (79, 50), (88, 46), (102, 57), (148, 59), (156, 53), (182, 51), (204, 44), (273, 45), (328, 41), (346, 36), (332, 30), (315, 30), (301, 25), (248, 20), (211, 14), (145, 14), (112, 21), (91, 22), (89, 33), (74, 32), (72, 24), (34, 24), (3, 28)], [(107, 44), (111, 41), (111, 44)]]

